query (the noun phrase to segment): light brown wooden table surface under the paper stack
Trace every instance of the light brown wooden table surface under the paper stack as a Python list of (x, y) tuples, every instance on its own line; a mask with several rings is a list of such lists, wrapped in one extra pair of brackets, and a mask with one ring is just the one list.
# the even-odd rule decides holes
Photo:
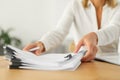
[(42, 71), (9, 69), (0, 57), (0, 80), (120, 80), (120, 66), (92, 61), (82, 63), (75, 71)]

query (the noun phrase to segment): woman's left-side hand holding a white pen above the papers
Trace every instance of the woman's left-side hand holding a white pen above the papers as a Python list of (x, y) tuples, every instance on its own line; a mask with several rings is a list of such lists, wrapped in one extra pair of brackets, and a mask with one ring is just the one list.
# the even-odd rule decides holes
[(28, 44), (27, 46), (25, 46), (23, 48), (23, 50), (24, 51), (29, 51), (30, 49), (36, 48), (36, 47), (39, 47), (39, 49), (33, 51), (33, 53), (35, 55), (40, 55), (40, 53), (45, 52), (45, 47), (44, 47), (44, 44), (42, 42), (35, 42), (35, 43)]

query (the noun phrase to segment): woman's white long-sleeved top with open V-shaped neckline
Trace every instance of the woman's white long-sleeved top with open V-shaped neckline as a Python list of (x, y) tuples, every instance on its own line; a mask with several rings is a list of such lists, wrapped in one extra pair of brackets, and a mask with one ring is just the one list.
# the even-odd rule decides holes
[(81, 0), (72, 0), (59, 21), (57, 27), (45, 34), (40, 41), (46, 51), (60, 44), (69, 33), (71, 24), (74, 24), (73, 39), (75, 44), (87, 33), (96, 32), (98, 46), (102, 51), (116, 51), (120, 35), (120, 5), (115, 8), (107, 4), (103, 7), (101, 29), (98, 30), (95, 7), (89, 0), (85, 9)]

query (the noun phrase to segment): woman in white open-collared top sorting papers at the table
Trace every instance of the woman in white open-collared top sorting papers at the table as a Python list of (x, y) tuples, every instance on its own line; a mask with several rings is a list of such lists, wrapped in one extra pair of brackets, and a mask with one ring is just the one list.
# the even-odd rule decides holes
[[(39, 55), (60, 44), (74, 24), (73, 38), (76, 44), (75, 53), (81, 46), (88, 51), (82, 61), (93, 60), (97, 50), (116, 51), (120, 34), (120, 5), (117, 0), (73, 0), (57, 25), (57, 28), (39, 41), (27, 45), (28, 51), (40, 47), (34, 53)], [(98, 48), (97, 48), (98, 47)]]

